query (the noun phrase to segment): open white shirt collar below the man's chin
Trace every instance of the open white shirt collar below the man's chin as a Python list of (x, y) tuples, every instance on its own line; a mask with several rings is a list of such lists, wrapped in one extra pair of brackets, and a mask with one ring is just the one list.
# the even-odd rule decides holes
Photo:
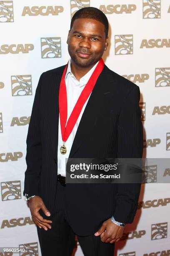
[(65, 79), (67, 78), (67, 75), (69, 74), (72, 79), (75, 80), (75, 84), (78, 86), (78, 87), (82, 87), (82, 86), (85, 86), (85, 84), (87, 84), (88, 80), (90, 79), (93, 71), (95, 70), (97, 64), (98, 64), (99, 61), (97, 61), (97, 63), (89, 70), (89, 72), (87, 72), (83, 77), (80, 78), (80, 81), (78, 81), (74, 74), (72, 74), (71, 72), (71, 59), (69, 59), (68, 61), (68, 66), (67, 66), (67, 71), (66, 71), (66, 74), (65, 74)]

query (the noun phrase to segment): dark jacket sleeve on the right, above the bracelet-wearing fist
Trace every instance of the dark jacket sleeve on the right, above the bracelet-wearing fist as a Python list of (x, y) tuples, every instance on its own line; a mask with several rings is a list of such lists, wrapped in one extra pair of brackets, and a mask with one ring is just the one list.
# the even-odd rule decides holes
[[(117, 128), (117, 158), (142, 158), (143, 125), (139, 107), (140, 90), (134, 86), (120, 110)], [(140, 183), (117, 185), (114, 218), (122, 223), (132, 223), (138, 208)]]

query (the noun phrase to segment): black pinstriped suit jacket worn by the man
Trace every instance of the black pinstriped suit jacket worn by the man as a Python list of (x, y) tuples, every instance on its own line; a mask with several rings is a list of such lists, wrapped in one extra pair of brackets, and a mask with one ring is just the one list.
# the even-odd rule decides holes
[[(39, 80), (27, 136), (24, 194), (40, 195), (53, 214), (57, 209), (58, 95), (65, 66)], [(69, 158), (141, 158), (143, 125), (139, 87), (104, 66), (87, 102)], [(102, 222), (132, 223), (141, 184), (67, 184), (66, 212), (79, 236)]]

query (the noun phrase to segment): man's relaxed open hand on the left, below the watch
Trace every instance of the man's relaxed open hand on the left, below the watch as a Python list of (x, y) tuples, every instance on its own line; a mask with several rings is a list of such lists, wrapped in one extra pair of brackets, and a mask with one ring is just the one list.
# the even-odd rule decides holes
[(41, 209), (46, 216), (50, 216), (50, 212), (45, 207), (45, 204), (42, 201), (41, 197), (32, 197), (28, 201), (28, 207), (30, 208), (32, 219), (39, 228), (44, 228), (45, 230), (51, 228), (51, 225), (49, 223), (52, 223), (52, 221), (44, 219), (39, 213), (39, 210)]

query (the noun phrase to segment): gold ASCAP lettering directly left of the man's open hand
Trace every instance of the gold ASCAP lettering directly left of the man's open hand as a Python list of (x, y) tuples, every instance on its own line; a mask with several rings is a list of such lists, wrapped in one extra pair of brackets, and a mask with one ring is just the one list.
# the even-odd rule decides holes
[(3, 220), (1, 228), (14, 228), (16, 226), (25, 226), (25, 225), (32, 225), (34, 224), (32, 218), (25, 217), (25, 218), (19, 218), (19, 219), (11, 219), (11, 220)]

